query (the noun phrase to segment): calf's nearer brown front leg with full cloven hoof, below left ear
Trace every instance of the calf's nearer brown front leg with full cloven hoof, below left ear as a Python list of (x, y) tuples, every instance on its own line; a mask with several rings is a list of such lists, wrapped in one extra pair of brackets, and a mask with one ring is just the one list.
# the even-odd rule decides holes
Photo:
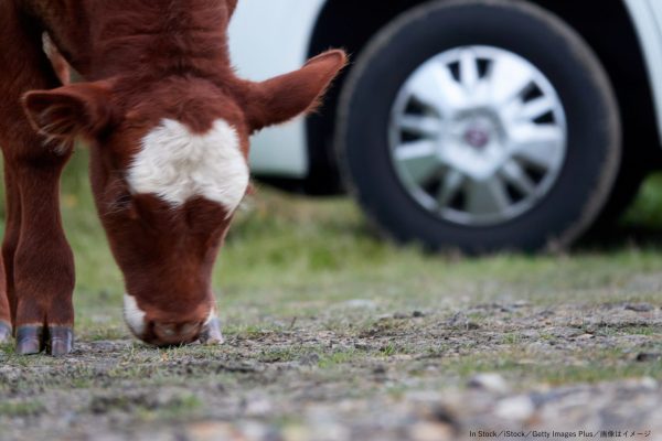
[(19, 354), (72, 351), (74, 257), (60, 215), (60, 176), (68, 159), (44, 149), (30, 160), (13, 161), (20, 192), (20, 235), (13, 255), (13, 325)]

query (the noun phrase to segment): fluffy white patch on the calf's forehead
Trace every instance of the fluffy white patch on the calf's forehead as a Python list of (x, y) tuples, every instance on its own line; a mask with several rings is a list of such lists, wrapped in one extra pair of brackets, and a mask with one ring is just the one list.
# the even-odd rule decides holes
[(226, 121), (217, 119), (210, 131), (196, 135), (163, 119), (142, 139), (127, 181), (135, 194), (156, 194), (173, 206), (200, 196), (233, 213), (248, 186), (248, 165)]

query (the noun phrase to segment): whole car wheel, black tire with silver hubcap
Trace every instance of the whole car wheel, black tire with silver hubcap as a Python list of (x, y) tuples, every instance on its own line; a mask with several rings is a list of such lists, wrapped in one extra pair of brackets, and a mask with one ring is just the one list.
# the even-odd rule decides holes
[[(462, 51), (470, 51), (470, 56)], [(516, 83), (500, 66), (505, 60), (512, 72), (522, 71), (523, 85), (526, 75), (534, 80), (515, 94), (516, 105), (495, 106), (501, 92), (485, 93), (480, 86), (479, 94), (474, 88), (488, 79), (493, 90)], [(435, 80), (442, 77), (440, 84), (446, 85), (445, 98), (437, 98), (438, 108), (431, 110), (434, 106), (419, 103), (434, 100), (430, 90), (437, 94), (437, 83), (427, 87), (433, 84), (425, 79), (433, 77), (427, 68), (437, 69)], [(452, 92), (452, 80), (473, 87), (462, 90), (480, 96), (478, 104), (458, 98), (461, 94)], [(542, 103), (534, 103), (541, 96), (555, 105), (538, 116), (533, 107)], [(522, 122), (515, 110), (502, 117), (509, 106), (536, 118)], [(430, 115), (439, 125), (430, 122)], [(471, 126), (479, 122), (485, 128)], [(412, 123), (414, 136), (407, 132)], [(421, 135), (426, 130), (429, 133)], [(530, 132), (540, 138), (523, 138)], [(549, 133), (551, 141), (545, 142), (553, 154), (545, 151), (541, 161), (549, 164), (535, 164), (547, 169), (532, 171), (533, 165), (512, 151), (535, 157), (528, 150), (535, 139), (547, 136), (543, 132)], [(615, 182), (621, 129), (605, 69), (560, 19), (516, 0), (434, 1), (403, 13), (361, 53), (342, 92), (335, 141), (345, 184), (369, 217), (397, 241), (467, 254), (536, 251), (567, 247), (590, 227)], [(416, 152), (414, 142), (426, 147)], [(424, 153), (427, 157), (416, 157)], [(437, 161), (439, 170), (430, 172), (430, 161)], [(457, 184), (460, 180), (462, 184)], [(448, 189), (457, 193), (452, 202)]]

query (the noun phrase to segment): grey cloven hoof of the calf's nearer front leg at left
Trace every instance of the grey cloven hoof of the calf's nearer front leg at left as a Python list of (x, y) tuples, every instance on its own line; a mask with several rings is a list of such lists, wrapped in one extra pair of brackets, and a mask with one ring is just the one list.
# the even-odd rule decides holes
[(17, 354), (32, 355), (46, 351), (60, 357), (74, 348), (74, 333), (71, 326), (23, 325), (17, 329)]

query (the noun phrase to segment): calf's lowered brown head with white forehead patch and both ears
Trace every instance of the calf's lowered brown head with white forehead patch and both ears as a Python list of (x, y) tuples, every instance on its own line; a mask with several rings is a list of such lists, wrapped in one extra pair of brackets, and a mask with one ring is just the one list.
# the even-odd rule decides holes
[(90, 141), (93, 192), (136, 336), (156, 345), (222, 340), (211, 273), (248, 186), (248, 138), (314, 107), (344, 63), (331, 51), (264, 83), (114, 77), (25, 95), (46, 148)]

